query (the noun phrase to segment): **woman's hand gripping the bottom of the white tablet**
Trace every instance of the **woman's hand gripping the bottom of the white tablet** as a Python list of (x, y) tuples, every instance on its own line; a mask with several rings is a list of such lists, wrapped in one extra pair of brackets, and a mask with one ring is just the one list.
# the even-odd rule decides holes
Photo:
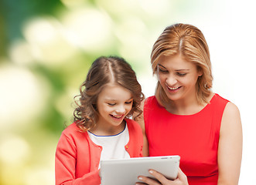
[(159, 180), (152, 180), (149, 177), (139, 176), (138, 180), (142, 180), (144, 183), (136, 183), (136, 185), (142, 185), (142, 184), (148, 184), (148, 185), (189, 185), (186, 175), (183, 173), (182, 170), (179, 169), (178, 177), (176, 180), (168, 180), (166, 177), (164, 177), (161, 173), (155, 171), (155, 170), (149, 170), (149, 173), (152, 174), (155, 179)]

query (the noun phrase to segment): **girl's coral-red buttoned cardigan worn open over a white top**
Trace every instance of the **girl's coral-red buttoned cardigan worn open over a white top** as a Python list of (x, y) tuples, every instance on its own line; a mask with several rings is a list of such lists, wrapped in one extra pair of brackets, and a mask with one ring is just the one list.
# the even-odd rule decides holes
[[(125, 145), (125, 150), (131, 157), (142, 156), (141, 127), (134, 120), (125, 121), (129, 131), (129, 141)], [(98, 170), (101, 151), (102, 147), (93, 143), (87, 132), (80, 132), (76, 123), (67, 126), (56, 147), (56, 185), (101, 184)]]

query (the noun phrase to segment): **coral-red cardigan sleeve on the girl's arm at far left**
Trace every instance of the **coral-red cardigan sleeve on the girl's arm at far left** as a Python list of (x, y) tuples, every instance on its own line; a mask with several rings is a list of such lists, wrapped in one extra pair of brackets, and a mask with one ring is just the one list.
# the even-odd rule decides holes
[[(85, 156), (86, 157), (86, 156)], [(56, 147), (55, 178), (56, 185), (97, 185), (101, 184), (99, 170), (84, 174), (76, 178), (77, 147), (64, 133)]]

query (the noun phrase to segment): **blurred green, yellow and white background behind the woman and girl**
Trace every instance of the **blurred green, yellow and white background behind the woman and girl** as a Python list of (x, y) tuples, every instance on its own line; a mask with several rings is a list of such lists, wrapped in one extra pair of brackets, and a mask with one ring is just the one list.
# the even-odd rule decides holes
[[(250, 143), (255, 122), (247, 109), (255, 103), (244, 97), (244, 91), (252, 97), (255, 88), (241, 88), (255, 79), (248, 67), (255, 61), (253, 49), (244, 49), (255, 41), (254, 10), (248, 2), (0, 0), (0, 184), (55, 183), (56, 143), (73, 121), (73, 96), (98, 56), (124, 57), (145, 96), (153, 95), (152, 45), (167, 25), (176, 22), (196, 25), (207, 38), (213, 90), (241, 109), (248, 142), (240, 184), (255, 182), (251, 163), (256, 153)], [(240, 27), (244, 24), (246, 33)]]

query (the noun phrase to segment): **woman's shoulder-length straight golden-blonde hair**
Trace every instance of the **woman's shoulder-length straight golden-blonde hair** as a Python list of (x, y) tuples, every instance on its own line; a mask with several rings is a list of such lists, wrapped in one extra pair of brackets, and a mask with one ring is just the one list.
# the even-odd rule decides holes
[[(207, 41), (200, 29), (193, 25), (175, 24), (167, 27), (152, 48), (151, 63), (153, 74), (157, 72), (159, 57), (161, 55), (182, 55), (183, 59), (193, 62), (197, 69), (203, 73), (196, 82), (196, 99), (198, 103), (208, 103), (213, 76), (211, 72), (210, 52)], [(155, 96), (162, 106), (169, 104), (160, 83), (157, 83)]]

